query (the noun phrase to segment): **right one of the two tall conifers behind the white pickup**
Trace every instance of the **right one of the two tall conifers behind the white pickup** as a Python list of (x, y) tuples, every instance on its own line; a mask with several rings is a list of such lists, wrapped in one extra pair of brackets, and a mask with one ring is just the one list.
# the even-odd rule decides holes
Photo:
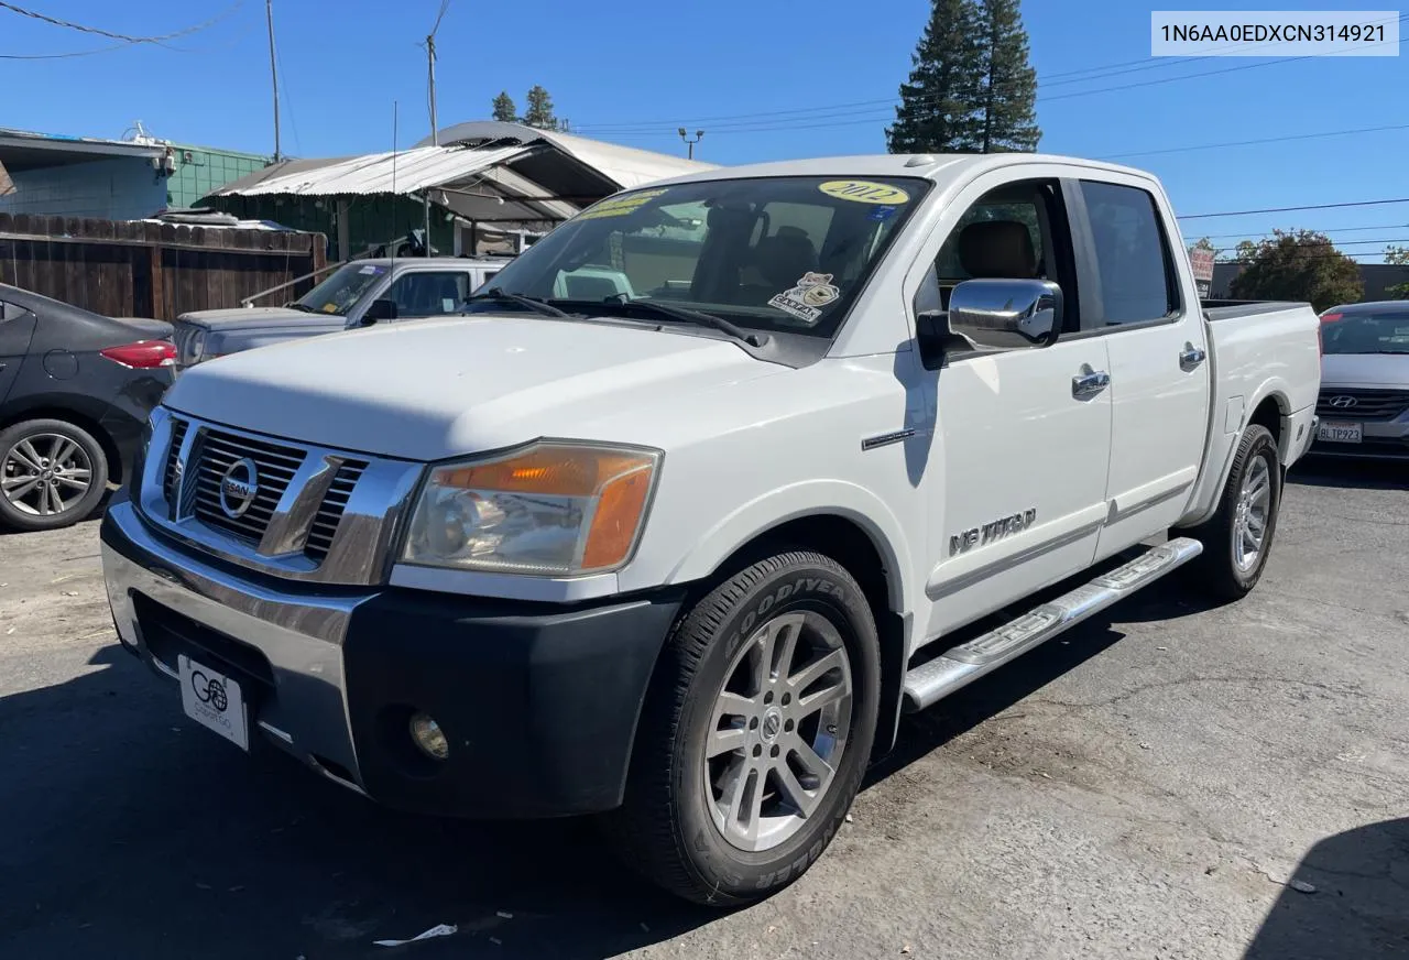
[(1019, 0), (983, 3), (983, 103), (979, 151), (1033, 152), (1037, 127), (1037, 70), (1027, 59), (1027, 30)]

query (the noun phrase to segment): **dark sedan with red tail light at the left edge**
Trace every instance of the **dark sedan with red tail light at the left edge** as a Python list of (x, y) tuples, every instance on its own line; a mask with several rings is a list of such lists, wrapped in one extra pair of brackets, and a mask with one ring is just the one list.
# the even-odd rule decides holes
[(131, 469), (176, 347), (161, 320), (113, 319), (0, 283), (0, 524), (89, 516)]

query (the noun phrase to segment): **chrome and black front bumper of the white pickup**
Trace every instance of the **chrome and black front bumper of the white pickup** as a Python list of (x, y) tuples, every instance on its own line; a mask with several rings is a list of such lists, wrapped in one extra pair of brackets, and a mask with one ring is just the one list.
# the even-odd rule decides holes
[[(180, 653), (209, 663), (241, 681), (251, 730), (275, 746), (373, 801), (451, 816), (617, 806), (681, 605), (674, 592), (562, 606), (276, 581), (178, 550), (125, 499), (101, 541), (118, 636), (159, 674), (175, 679)], [(409, 739), (414, 710), (445, 732), (445, 761)]]

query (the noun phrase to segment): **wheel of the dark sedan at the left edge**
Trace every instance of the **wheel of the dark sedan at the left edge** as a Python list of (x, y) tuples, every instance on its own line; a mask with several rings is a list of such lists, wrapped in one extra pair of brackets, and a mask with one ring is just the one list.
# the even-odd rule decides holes
[[(56, 465), (51, 462), (55, 454)], [(97, 507), (107, 475), (101, 444), (82, 427), (66, 420), (6, 427), (0, 430), (0, 523), (23, 531), (72, 526)]]

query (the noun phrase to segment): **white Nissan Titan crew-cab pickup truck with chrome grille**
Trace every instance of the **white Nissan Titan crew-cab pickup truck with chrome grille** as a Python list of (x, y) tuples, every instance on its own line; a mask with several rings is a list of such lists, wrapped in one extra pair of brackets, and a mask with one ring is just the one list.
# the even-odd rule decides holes
[(1253, 589), (1317, 327), (1200, 304), (1134, 169), (666, 180), (469, 316), (186, 372), (103, 522), (113, 613), (240, 747), (406, 809), (603, 815), (740, 904), (821, 854), (902, 710), (1186, 562)]

